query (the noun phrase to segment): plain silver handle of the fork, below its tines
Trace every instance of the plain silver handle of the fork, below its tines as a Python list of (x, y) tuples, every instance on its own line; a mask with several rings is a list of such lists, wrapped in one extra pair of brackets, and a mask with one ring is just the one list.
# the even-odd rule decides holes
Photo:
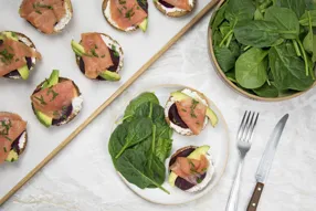
[(238, 198), (239, 198), (239, 189), (240, 189), (240, 180), (241, 180), (241, 172), (243, 167), (243, 159), (240, 160), (234, 184), (231, 189), (229, 202), (227, 204), (227, 211), (236, 211), (238, 210)]

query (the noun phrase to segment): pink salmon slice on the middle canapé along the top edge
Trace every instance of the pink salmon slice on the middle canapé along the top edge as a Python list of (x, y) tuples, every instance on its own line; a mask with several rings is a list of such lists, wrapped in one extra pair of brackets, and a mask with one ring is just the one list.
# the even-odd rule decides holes
[(137, 3), (137, 0), (109, 0), (110, 1), (110, 18), (117, 25), (126, 30), (130, 27), (140, 24), (147, 13)]

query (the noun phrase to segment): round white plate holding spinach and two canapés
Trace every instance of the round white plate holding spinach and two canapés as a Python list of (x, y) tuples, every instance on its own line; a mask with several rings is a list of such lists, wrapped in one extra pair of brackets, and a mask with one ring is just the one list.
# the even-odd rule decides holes
[[(180, 91), (186, 87), (187, 86), (182, 86), (182, 85), (159, 85), (159, 86), (148, 88), (144, 92), (155, 93), (160, 102), (160, 105), (165, 107), (167, 99), (169, 98), (171, 92)], [(133, 98), (137, 97), (141, 93), (138, 93), (137, 95), (133, 96)], [(206, 93), (203, 94), (207, 96)], [(133, 98), (130, 98), (128, 103)], [(159, 203), (159, 204), (167, 204), (167, 205), (168, 204), (181, 204), (181, 203), (187, 203), (187, 202), (197, 200), (214, 188), (214, 186), (221, 179), (221, 176), (223, 175), (225, 167), (227, 167), (227, 161), (229, 157), (229, 133), (228, 133), (227, 123), (221, 112), (215, 107), (215, 105), (211, 101), (209, 101), (209, 103), (210, 103), (209, 104), (210, 107), (215, 112), (219, 118), (219, 124), (217, 125), (217, 127), (213, 128), (209, 123), (207, 127), (204, 128), (204, 130), (199, 136), (181, 136), (175, 131), (172, 136), (173, 143), (172, 143), (172, 149), (171, 149), (171, 155), (172, 155), (181, 147), (186, 147), (190, 145), (192, 146), (209, 145), (211, 147), (210, 150), (211, 150), (211, 155), (213, 159), (213, 165), (215, 168), (215, 172), (213, 175), (212, 180), (209, 182), (209, 184), (203, 190), (194, 192), (194, 193), (182, 191), (176, 187), (172, 188), (168, 183), (169, 172), (167, 170), (168, 175), (166, 175), (166, 180), (162, 184), (164, 188), (170, 192), (170, 194), (167, 194), (166, 192), (161, 191), (158, 188), (140, 189), (137, 186), (129, 183), (118, 172), (118, 175), (122, 177), (123, 181), (128, 186), (128, 188), (130, 188), (135, 193), (137, 193), (139, 197), (144, 198), (147, 201)], [(119, 119), (122, 119), (124, 115), (124, 110), (127, 105), (122, 107), (123, 109), (120, 110), (116, 123), (118, 123)], [(117, 124), (115, 124), (113, 128), (115, 128)], [(169, 163), (169, 158), (166, 160), (166, 163), (165, 163), (166, 169), (168, 169), (168, 163)]]

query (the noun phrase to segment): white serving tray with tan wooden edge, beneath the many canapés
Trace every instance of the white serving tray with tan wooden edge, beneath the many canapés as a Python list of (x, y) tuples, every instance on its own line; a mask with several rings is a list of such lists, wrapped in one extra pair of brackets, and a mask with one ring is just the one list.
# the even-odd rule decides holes
[[(18, 14), (21, 0), (0, 0), (0, 31), (17, 31), (28, 35), (43, 60), (27, 82), (0, 78), (0, 110), (14, 112), (28, 120), (29, 143), (21, 159), (0, 167), (0, 205), (53, 159), (116, 97), (128, 88), (155, 61), (191, 29), (219, 0), (197, 0), (194, 11), (185, 18), (171, 19), (161, 14), (149, 0), (148, 31), (124, 33), (113, 29), (102, 13), (102, 0), (72, 0), (74, 17), (66, 29), (56, 35), (44, 35)], [(71, 40), (83, 32), (102, 32), (117, 40), (125, 53), (122, 81), (94, 82), (77, 68)], [(70, 124), (45, 128), (33, 115), (30, 95), (53, 68), (72, 78), (84, 97), (81, 114)], [(89, 141), (89, 140), (87, 140)]]

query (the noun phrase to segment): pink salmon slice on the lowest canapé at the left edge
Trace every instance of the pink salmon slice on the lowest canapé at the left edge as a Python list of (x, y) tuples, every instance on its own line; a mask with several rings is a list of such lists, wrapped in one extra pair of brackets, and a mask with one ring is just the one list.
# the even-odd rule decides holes
[[(8, 116), (8, 114), (4, 115)], [(0, 163), (2, 163), (8, 157), (13, 141), (25, 130), (27, 122), (11, 120), (3, 116), (0, 116)]]

